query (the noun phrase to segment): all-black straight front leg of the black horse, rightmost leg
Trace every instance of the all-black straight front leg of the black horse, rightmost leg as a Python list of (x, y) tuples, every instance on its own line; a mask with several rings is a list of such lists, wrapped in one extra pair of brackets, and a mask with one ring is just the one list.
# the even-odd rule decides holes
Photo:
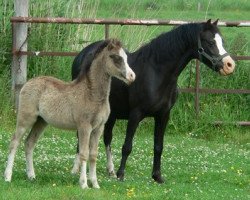
[(164, 179), (161, 175), (161, 155), (163, 150), (164, 132), (169, 120), (169, 113), (170, 111), (167, 111), (164, 114), (158, 114), (154, 117), (154, 163), (152, 178), (157, 183), (164, 183)]

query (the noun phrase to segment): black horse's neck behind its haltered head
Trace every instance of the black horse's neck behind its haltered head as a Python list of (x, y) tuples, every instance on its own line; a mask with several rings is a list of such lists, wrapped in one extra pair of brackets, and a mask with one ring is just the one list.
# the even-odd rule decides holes
[(189, 24), (152, 40), (156, 62), (165, 63), (167, 73), (179, 76), (188, 62), (196, 57), (199, 29), (199, 25)]

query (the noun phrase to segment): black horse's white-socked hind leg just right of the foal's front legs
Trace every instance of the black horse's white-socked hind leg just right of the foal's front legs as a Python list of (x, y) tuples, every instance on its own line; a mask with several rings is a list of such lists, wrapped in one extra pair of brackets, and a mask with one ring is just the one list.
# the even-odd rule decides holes
[(115, 125), (115, 118), (112, 116), (109, 117), (107, 123), (105, 124), (104, 128), (104, 144), (105, 144), (105, 149), (106, 149), (106, 157), (107, 157), (107, 171), (110, 176), (115, 176), (115, 168), (113, 164), (113, 157), (112, 157), (112, 152), (111, 152), (111, 142), (112, 142), (112, 130)]

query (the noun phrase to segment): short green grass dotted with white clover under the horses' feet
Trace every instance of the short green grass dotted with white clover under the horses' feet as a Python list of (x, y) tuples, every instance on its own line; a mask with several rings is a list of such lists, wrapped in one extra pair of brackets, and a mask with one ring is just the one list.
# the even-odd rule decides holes
[[(81, 190), (79, 176), (70, 174), (75, 153), (74, 133), (47, 129), (34, 153), (36, 180), (26, 178), (22, 144), (12, 182), (5, 183), (3, 177), (0, 178), (1, 199), (249, 199), (249, 143), (237, 144), (222, 139), (208, 141), (189, 132), (166, 135), (162, 156), (166, 183), (154, 183), (150, 178), (153, 157), (151, 123), (146, 120), (138, 129), (123, 182), (108, 177), (104, 145), (100, 142), (97, 163), (100, 190)], [(124, 128), (123, 122), (115, 128), (112, 147), (116, 168)], [(215, 128), (214, 132), (220, 131)], [(11, 135), (4, 129), (1, 133), (0, 170), (4, 171)]]

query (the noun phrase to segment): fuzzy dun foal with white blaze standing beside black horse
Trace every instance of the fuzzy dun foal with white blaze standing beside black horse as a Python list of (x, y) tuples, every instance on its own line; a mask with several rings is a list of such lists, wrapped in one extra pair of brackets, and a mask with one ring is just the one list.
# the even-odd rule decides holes
[(28, 81), (19, 97), (16, 132), (10, 143), (5, 181), (11, 181), (14, 157), (23, 135), (26, 169), (35, 178), (33, 150), (47, 124), (79, 133), (81, 165), (80, 186), (87, 188), (86, 164), (92, 186), (99, 188), (96, 177), (96, 158), (99, 138), (110, 113), (109, 93), (111, 77), (129, 84), (135, 74), (128, 66), (127, 55), (118, 40), (106, 40), (82, 64), (75, 81), (65, 83), (53, 77), (37, 77)]

